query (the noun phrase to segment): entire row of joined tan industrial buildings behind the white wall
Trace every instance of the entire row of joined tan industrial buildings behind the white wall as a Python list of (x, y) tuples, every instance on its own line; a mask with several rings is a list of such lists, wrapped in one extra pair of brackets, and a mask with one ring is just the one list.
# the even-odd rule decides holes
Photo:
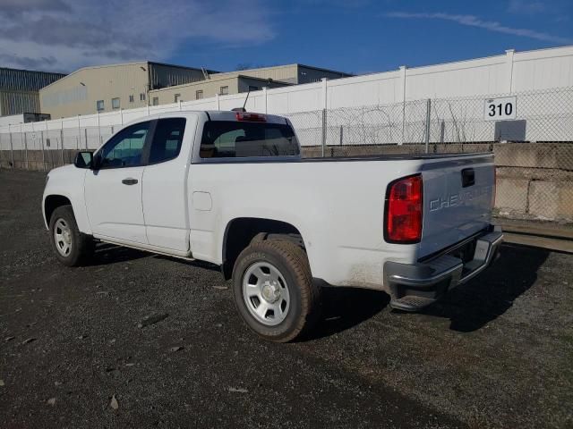
[(164, 63), (124, 63), (74, 71), (42, 88), (39, 97), (41, 113), (64, 118), (348, 76), (303, 64), (220, 73)]

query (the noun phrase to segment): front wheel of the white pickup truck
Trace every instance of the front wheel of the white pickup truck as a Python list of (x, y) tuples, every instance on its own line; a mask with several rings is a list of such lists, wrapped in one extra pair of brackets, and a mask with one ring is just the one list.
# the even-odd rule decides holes
[(52, 248), (64, 265), (77, 266), (93, 253), (94, 242), (75, 222), (72, 206), (59, 206), (50, 218)]

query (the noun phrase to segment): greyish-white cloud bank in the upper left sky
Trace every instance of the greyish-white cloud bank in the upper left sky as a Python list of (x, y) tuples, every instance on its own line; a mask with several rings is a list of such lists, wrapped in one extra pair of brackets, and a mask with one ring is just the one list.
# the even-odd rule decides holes
[(73, 71), (101, 63), (161, 61), (186, 42), (254, 46), (275, 36), (258, 0), (1, 2), (0, 66), (5, 67)]

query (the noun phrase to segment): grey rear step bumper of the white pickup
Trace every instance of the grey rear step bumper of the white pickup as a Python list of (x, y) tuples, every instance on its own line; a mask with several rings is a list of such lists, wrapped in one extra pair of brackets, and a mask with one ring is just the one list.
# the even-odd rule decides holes
[(456, 252), (412, 265), (387, 262), (384, 276), (392, 297), (390, 307), (418, 311), (429, 306), (487, 268), (497, 256), (502, 240), (501, 231), (484, 232), (471, 243), (475, 246), (474, 255), (466, 262), (454, 256)]

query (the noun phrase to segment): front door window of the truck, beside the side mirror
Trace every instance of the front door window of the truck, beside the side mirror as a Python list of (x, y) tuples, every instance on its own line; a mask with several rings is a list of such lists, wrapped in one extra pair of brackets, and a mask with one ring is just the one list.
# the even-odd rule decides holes
[(117, 133), (102, 147), (99, 168), (136, 167), (141, 165), (143, 146), (150, 122), (136, 123)]

